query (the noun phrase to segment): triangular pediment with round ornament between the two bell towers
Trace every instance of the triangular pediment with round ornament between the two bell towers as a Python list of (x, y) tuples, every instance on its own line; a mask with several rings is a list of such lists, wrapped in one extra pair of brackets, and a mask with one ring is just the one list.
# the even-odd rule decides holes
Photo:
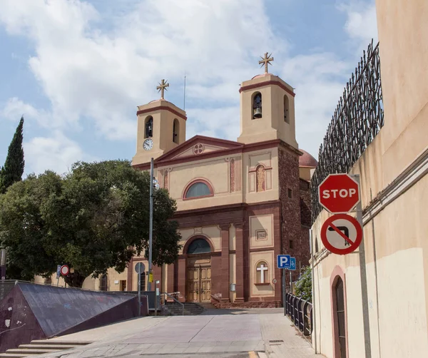
[(161, 157), (155, 161), (161, 162), (164, 160), (188, 158), (192, 156), (196, 157), (201, 154), (213, 153), (215, 151), (221, 152), (222, 150), (242, 148), (243, 146), (243, 143), (234, 142), (232, 140), (195, 135), (193, 138), (186, 140), (168, 153), (161, 155)]

